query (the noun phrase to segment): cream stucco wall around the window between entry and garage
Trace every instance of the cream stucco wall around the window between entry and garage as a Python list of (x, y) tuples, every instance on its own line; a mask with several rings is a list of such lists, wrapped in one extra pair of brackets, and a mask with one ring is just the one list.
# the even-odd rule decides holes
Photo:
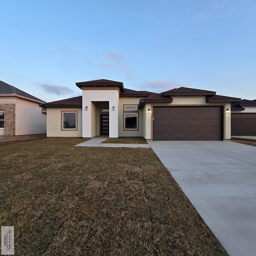
[(119, 123), (119, 136), (120, 137), (142, 137), (143, 136), (143, 110), (138, 110), (138, 130), (124, 130), (124, 105), (138, 105), (140, 98), (136, 97), (120, 97), (118, 108), (118, 123)]

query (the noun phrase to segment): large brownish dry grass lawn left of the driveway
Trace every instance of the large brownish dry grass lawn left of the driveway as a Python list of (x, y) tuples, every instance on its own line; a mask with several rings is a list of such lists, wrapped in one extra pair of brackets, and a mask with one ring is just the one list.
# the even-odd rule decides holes
[(0, 145), (0, 223), (15, 255), (227, 255), (151, 148)]

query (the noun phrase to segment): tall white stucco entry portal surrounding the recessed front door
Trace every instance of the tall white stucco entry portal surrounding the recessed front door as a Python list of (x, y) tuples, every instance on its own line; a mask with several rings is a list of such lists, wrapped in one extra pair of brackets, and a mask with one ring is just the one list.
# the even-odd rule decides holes
[[(97, 136), (95, 135), (95, 126), (92, 126), (92, 122), (96, 122), (95, 108), (92, 106), (92, 104), (95, 104), (94, 102), (109, 102), (109, 137), (118, 138), (118, 90), (83, 90), (82, 97), (83, 138)], [(85, 110), (86, 106), (88, 110)], [(112, 110), (113, 106), (115, 110)]]

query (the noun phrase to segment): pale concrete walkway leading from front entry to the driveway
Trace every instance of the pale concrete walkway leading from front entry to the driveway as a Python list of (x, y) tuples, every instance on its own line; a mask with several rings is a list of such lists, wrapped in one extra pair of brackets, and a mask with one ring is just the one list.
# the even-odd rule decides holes
[(150, 148), (149, 144), (102, 143), (106, 137), (95, 137), (75, 146), (78, 147), (107, 147), (107, 148)]

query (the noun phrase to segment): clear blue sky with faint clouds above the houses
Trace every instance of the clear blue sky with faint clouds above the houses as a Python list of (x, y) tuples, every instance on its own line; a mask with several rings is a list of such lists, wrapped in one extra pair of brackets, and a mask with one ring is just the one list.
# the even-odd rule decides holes
[(2, 0), (0, 80), (46, 102), (75, 82), (256, 99), (255, 0)]

